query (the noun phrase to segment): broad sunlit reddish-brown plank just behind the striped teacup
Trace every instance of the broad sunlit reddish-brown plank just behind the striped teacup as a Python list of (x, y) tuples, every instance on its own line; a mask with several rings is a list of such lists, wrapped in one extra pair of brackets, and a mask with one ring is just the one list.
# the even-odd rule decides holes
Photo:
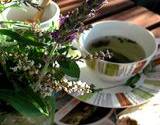
[(109, 16), (104, 20), (124, 20), (144, 27), (150, 27), (151, 25), (160, 22), (160, 16), (143, 7), (136, 6), (118, 14)]

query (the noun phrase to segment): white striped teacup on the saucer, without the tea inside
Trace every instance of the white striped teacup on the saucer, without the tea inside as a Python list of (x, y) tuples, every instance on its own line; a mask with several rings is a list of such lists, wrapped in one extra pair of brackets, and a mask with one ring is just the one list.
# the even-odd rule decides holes
[[(101, 21), (80, 34), (79, 43), (82, 54), (90, 54), (87, 47), (90, 42), (105, 36), (119, 36), (137, 42), (145, 51), (146, 57), (130, 63), (116, 63), (101, 59), (86, 60), (87, 66), (103, 80), (122, 83), (141, 72), (157, 51), (157, 43), (151, 32), (143, 27), (124, 21)], [(135, 48), (136, 49), (136, 48)]]

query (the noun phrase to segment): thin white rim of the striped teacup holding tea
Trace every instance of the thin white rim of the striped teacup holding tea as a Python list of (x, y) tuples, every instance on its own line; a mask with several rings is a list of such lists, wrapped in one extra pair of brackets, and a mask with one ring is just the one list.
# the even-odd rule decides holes
[[(95, 23), (93, 23), (93, 24), (91, 24), (91, 25), (94, 26), (94, 25), (98, 25), (98, 24), (102, 24), (102, 23), (104, 23), (104, 24), (106, 24), (106, 23), (123, 23), (123, 24), (128, 24), (128, 25), (136, 26), (136, 27), (142, 29), (143, 31), (147, 32), (148, 35), (150, 35), (150, 36), (153, 38), (153, 41), (154, 41), (154, 43), (155, 43), (155, 49), (154, 49), (154, 51), (153, 51), (149, 56), (147, 56), (147, 57), (145, 57), (145, 58), (143, 58), (143, 59), (141, 59), (141, 60), (136, 60), (136, 61), (134, 61), (134, 62), (118, 63), (118, 62), (111, 62), (111, 61), (107, 61), (107, 60), (98, 59), (99, 61), (101, 61), (101, 62), (103, 62), (103, 63), (112, 63), (112, 64), (117, 64), (117, 65), (135, 64), (135, 63), (139, 63), (139, 62), (144, 62), (144, 61), (146, 61), (147, 59), (152, 58), (152, 57), (155, 55), (155, 53), (157, 52), (157, 50), (158, 50), (158, 43), (155, 41), (155, 36), (154, 36), (154, 34), (153, 34), (152, 32), (150, 32), (150, 31), (147, 30), (146, 28), (144, 28), (144, 27), (142, 27), (142, 26), (140, 26), (140, 25), (137, 25), (137, 24), (130, 23), (130, 22), (128, 22), (128, 21), (120, 21), (120, 20), (103, 20), (103, 21), (95, 22)], [(91, 53), (89, 53), (89, 52), (87, 51), (87, 49), (82, 45), (82, 42), (80, 42), (80, 39), (82, 40), (83, 37), (86, 35), (86, 34), (84, 34), (84, 32), (87, 32), (87, 33), (88, 33), (88, 32), (91, 31), (91, 30), (92, 30), (92, 28), (83, 31), (83, 32), (79, 35), (79, 39), (78, 39), (78, 42), (80, 43), (80, 45), (81, 45), (81, 46), (83, 47), (83, 49), (84, 49), (84, 50), (82, 50), (82, 51), (85, 51), (85, 53), (87, 53), (87, 54), (91, 54)]]

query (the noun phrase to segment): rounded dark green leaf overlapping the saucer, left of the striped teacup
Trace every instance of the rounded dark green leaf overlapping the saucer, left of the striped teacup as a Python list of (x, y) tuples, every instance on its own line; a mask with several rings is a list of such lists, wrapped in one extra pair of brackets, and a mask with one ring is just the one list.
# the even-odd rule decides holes
[(64, 60), (58, 62), (64, 73), (70, 77), (79, 78), (80, 68), (73, 60)]

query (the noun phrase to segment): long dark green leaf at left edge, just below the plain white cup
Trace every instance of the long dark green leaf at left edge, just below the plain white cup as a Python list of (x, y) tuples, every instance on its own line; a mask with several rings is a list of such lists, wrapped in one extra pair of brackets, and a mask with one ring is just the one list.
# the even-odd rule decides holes
[(8, 29), (0, 29), (0, 34), (11, 37), (12, 39), (16, 40), (20, 45), (43, 46), (43, 43), (33, 41), (32, 39), (21, 36), (20, 34)]

